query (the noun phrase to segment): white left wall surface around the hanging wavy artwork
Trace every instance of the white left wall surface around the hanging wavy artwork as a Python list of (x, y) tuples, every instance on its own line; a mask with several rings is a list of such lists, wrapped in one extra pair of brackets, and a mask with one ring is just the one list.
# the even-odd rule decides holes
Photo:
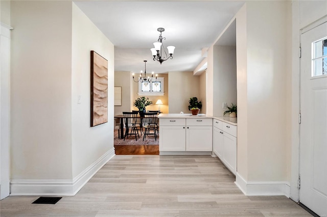
[[(113, 148), (113, 44), (73, 4), (72, 21), (72, 157), (73, 178)], [(108, 122), (90, 127), (90, 50), (108, 61)], [(81, 103), (78, 104), (78, 96)]]

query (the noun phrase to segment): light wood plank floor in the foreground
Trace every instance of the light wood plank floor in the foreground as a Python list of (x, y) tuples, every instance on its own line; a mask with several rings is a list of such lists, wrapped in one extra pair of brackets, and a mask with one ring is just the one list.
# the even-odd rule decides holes
[(3, 216), (311, 216), (284, 196), (247, 197), (211, 156), (116, 155), (55, 205), (10, 196)]

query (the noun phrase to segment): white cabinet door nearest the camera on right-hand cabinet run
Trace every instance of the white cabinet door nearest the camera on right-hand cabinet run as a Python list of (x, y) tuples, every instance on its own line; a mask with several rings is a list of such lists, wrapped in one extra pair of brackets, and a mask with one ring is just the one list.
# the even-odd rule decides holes
[(236, 137), (223, 132), (223, 162), (226, 167), (235, 175), (236, 174), (236, 154), (237, 154), (237, 140)]

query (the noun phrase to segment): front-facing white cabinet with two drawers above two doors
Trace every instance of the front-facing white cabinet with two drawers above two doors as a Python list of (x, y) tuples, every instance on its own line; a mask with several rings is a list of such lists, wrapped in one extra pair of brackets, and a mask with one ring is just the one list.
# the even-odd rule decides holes
[(211, 118), (161, 118), (159, 151), (212, 151)]

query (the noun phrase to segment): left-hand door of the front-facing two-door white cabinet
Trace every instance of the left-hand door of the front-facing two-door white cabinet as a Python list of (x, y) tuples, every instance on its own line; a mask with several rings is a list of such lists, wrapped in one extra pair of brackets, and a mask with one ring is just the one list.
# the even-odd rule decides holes
[(161, 126), (159, 151), (185, 151), (185, 126)]

